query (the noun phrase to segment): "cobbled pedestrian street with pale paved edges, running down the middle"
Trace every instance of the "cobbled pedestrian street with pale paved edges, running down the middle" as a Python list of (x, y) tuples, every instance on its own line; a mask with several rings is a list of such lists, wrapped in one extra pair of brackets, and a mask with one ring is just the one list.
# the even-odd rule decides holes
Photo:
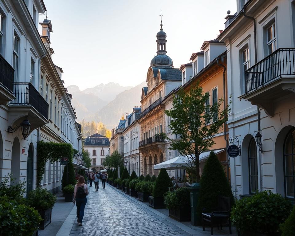
[[(155, 210), (108, 184), (105, 189), (100, 185), (98, 192), (94, 190), (94, 186), (89, 187), (83, 226), (77, 225), (75, 206), (58, 231), (58, 236), (211, 235), (209, 227), (203, 231), (202, 227), (191, 226), (189, 222), (175, 221), (167, 216), (167, 210)], [(228, 227), (224, 230), (214, 230), (214, 235), (230, 235)]]

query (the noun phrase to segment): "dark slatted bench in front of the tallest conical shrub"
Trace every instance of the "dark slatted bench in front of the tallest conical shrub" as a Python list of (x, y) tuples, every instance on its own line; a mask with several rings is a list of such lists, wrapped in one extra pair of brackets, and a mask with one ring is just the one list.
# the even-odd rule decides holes
[(216, 208), (204, 208), (202, 211), (203, 219), (203, 231), (205, 231), (205, 221), (210, 222), (211, 225), (211, 235), (213, 235), (213, 225), (214, 223), (219, 224), (222, 230), (222, 221), (228, 220), (230, 234), (231, 234), (231, 224), (230, 224), (230, 197), (219, 196), (218, 206)]

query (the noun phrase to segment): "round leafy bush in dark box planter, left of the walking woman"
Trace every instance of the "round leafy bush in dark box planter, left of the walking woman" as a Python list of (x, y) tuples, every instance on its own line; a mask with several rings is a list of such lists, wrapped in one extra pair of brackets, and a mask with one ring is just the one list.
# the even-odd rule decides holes
[(39, 227), (41, 230), (44, 230), (51, 223), (51, 210), (56, 203), (56, 199), (57, 197), (45, 188), (36, 188), (29, 192), (29, 205), (35, 207), (42, 218)]

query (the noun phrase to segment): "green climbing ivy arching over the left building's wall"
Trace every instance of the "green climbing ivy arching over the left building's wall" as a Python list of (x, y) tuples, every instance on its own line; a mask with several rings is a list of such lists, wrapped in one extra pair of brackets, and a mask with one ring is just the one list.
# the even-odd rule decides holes
[(51, 163), (67, 157), (69, 162), (73, 161), (73, 147), (66, 143), (53, 143), (39, 141), (37, 144), (37, 186), (40, 185), (45, 172), (47, 161)]

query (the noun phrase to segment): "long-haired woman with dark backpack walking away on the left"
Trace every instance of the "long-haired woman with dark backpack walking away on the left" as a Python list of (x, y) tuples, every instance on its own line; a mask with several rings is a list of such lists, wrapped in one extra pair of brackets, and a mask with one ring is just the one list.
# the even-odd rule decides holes
[(77, 205), (77, 222), (82, 226), (82, 220), (84, 216), (84, 209), (87, 203), (86, 196), (89, 194), (88, 186), (85, 184), (83, 176), (79, 177), (78, 183), (75, 185), (73, 203)]

